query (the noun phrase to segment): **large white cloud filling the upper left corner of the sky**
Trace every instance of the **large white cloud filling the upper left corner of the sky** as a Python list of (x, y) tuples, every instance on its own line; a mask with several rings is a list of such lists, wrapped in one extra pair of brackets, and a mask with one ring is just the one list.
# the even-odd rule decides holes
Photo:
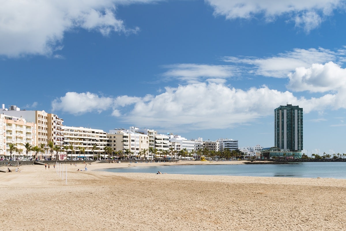
[(52, 55), (64, 33), (75, 28), (135, 33), (117, 19), (115, 5), (154, 0), (4, 0), (0, 7), (0, 55)]

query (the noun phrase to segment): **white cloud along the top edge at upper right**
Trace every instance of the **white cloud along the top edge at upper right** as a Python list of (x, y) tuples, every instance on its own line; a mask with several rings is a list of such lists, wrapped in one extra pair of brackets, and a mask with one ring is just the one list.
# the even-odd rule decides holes
[(333, 10), (344, 8), (344, 0), (205, 0), (214, 8), (214, 15), (226, 19), (251, 19), (263, 15), (265, 20), (273, 21), (284, 16), (295, 21), (307, 32), (318, 27)]

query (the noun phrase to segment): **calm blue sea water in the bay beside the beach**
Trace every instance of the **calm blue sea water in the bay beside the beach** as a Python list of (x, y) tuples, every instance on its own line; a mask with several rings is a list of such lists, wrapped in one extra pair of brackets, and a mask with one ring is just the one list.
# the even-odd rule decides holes
[(143, 172), (220, 176), (262, 176), (262, 177), (305, 177), (346, 179), (345, 162), (297, 163), (288, 165), (173, 165), (145, 166), (136, 163), (135, 167), (109, 168), (109, 172)]

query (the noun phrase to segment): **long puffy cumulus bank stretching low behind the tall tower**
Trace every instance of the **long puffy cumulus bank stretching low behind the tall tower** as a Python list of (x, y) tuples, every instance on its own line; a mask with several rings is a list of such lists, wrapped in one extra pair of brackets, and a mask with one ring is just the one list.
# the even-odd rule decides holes
[(292, 92), (266, 86), (247, 90), (219, 83), (194, 83), (145, 97), (103, 97), (92, 93), (67, 92), (53, 101), (53, 110), (71, 114), (102, 112), (129, 124), (145, 124), (175, 130), (231, 128), (272, 115), (277, 105), (290, 102), (303, 107), (304, 113), (346, 108), (345, 94), (326, 94), (320, 98), (297, 98)]

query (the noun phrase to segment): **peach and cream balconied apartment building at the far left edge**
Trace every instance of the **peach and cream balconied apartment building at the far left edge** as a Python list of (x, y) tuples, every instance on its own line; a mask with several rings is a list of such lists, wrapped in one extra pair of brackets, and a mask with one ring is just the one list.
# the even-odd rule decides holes
[[(33, 158), (35, 153), (25, 148), (26, 143), (36, 146), (36, 124), (26, 122), (24, 118), (0, 115), (0, 158), (22, 160)], [(18, 151), (10, 153), (10, 145), (14, 144)]]

